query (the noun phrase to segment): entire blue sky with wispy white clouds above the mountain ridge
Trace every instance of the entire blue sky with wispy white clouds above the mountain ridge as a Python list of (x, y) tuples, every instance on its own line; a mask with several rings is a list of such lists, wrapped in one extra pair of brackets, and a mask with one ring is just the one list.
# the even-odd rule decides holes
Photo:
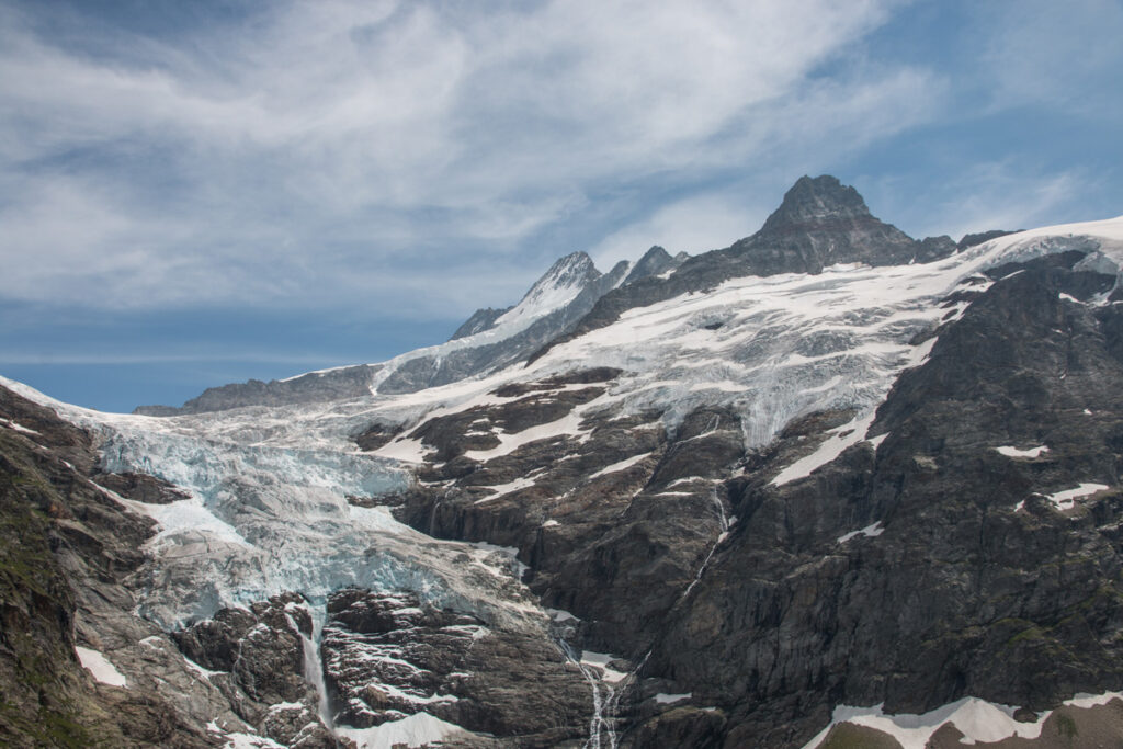
[(0, 374), (378, 362), (803, 174), (914, 237), (1123, 213), (1123, 0), (0, 0)]

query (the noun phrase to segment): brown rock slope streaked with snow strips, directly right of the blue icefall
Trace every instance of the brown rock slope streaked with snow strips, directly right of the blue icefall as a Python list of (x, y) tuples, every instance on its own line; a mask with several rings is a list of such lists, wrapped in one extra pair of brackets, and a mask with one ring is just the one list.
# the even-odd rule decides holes
[[(590, 412), (581, 436), (545, 435), (485, 458), (508, 433), (574, 418), (619, 371), (496, 391), (494, 405), (423, 421), (436, 449), (395, 513), (439, 538), (510, 547), (547, 606), (583, 621), (582, 642), (637, 656), (728, 526), (720, 481), (743, 455), (736, 414), (700, 409), (664, 429), (657, 412)], [(579, 381), (590, 381), (588, 386)], [(594, 647), (595, 646), (595, 647)]]

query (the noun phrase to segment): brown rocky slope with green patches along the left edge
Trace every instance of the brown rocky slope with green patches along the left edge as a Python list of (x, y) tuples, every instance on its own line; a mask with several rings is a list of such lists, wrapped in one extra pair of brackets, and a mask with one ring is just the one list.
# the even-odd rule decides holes
[[(143, 561), (152, 522), (90, 482), (89, 433), (2, 387), (0, 418), (0, 743), (210, 746), (192, 706), (171, 700), (186, 669), (154, 654), (164, 686), (126, 689), (97, 681), (75, 649), (110, 664), (124, 663), (118, 648), (150, 649), (137, 641), (157, 631), (127, 613), (121, 582)], [(106, 619), (117, 625), (94, 627)]]

